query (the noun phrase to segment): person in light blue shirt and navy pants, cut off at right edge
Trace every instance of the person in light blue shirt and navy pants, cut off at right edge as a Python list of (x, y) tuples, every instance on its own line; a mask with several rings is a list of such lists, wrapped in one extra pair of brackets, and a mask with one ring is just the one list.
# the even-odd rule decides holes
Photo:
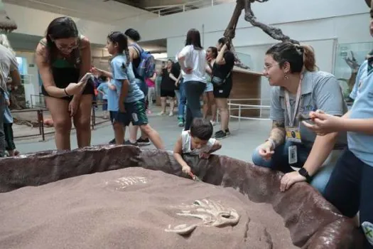
[[(372, 25), (371, 25), (372, 26)], [(342, 117), (310, 112), (313, 124), (303, 122), (318, 135), (347, 132), (348, 149), (338, 159), (324, 197), (347, 217), (360, 211), (360, 226), (373, 248), (373, 60), (360, 66), (352, 108)]]

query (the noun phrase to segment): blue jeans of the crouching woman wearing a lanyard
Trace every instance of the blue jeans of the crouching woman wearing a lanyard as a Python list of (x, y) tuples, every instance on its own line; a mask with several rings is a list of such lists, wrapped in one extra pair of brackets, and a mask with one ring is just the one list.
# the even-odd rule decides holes
[[(271, 159), (266, 161), (259, 155), (259, 147), (257, 147), (252, 155), (253, 164), (257, 166), (263, 166), (270, 169), (275, 169), (282, 171), (283, 173), (288, 173), (294, 171), (288, 163), (288, 147), (291, 145), (297, 146), (298, 162), (296, 164), (291, 164), (293, 167), (301, 168), (310, 154), (310, 149), (302, 144), (293, 144), (293, 142), (286, 140), (286, 142), (279, 147), (276, 147), (274, 155)], [(328, 184), (330, 175), (334, 169), (335, 162), (330, 162), (324, 165), (312, 178), (310, 185), (315, 189), (324, 194), (325, 186)]]

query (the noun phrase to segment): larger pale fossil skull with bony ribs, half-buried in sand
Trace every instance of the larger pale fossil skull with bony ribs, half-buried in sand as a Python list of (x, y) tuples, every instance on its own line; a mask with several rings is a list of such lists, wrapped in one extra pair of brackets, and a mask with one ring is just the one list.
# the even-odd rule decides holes
[(195, 201), (193, 205), (180, 206), (181, 213), (176, 213), (178, 216), (189, 216), (200, 218), (198, 221), (188, 224), (181, 224), (171, 228), (171, 225), (165, 229), (166, 232), (178, 233), (180, 235), (188, 235), (192, 233), (198, 226), (236, 226), (239, 222), (239, 214), (233, 208), (225, 208), (217, 201), (203, 199)]

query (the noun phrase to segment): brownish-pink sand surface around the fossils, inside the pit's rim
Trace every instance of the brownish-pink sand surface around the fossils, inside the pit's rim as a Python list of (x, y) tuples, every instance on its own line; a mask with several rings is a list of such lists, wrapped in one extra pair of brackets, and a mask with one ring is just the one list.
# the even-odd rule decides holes
[[(233, 208), (239, 222), (217, 228), (178, 216), (196, 200)], [(296, 248), (271, 205), (253, 203), (234, 189), (142, 168), (0, 194), (0, 221), (1, 248)], [(181, 224), (198, 226), (188, 236), (166, 231)]]

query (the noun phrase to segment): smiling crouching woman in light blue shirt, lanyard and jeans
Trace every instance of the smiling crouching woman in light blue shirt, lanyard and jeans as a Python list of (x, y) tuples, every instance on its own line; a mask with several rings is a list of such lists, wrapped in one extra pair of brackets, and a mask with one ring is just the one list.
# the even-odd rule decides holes
[[(256, 148), (252, 161), (286, 173), (281, 179), (281, 191), (296, 182), (308, 181), (323, 193), (335, 166), (330, 159), (346, 147), (346, 134), (315, 136), (300, 120), (315, 110), (344, 115), (347, 105), (339, 83), (334, 75), (316, 70), (312, 48), (288, 42), (278, 43), (266, 52), (264, 75), (274, 86), (270, 110), (273, 124), (269, 139)], [(330, 141), (336, 141), (334, 148)], [(293, 167), (301, 169), (294, 171)]]

